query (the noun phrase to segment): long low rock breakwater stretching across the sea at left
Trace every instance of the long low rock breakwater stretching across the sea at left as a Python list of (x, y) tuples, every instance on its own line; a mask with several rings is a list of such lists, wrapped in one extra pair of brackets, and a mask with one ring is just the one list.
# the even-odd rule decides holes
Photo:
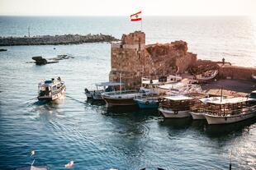
[(116, 41), (109, 34), (64, 34), (64, 35), (37, 35), (33, 37), (0, 37), (0, 46), (12, 45), (58, 45), (58, 44), (83, 44), (96, 42)]

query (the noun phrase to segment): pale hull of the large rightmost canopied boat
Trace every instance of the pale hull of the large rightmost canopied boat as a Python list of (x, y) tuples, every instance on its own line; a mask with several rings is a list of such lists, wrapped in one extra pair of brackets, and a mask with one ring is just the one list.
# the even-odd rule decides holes
[(244, 121), (246, 119), (249, 119), (255, 116), (256, 116), (256, 112), (244, 113), (244, 114), (227, 116), (227, 117), (217, 117), (209, 114), (205, 115), (209, 125), (235, 123), (235, 122)]

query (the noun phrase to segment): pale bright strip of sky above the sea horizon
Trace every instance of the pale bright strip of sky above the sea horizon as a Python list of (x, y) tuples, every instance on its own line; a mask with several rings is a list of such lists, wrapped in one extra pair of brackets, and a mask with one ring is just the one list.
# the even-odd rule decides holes
[(0, 0), (4, 16), (256, 16), (256, 0)]

